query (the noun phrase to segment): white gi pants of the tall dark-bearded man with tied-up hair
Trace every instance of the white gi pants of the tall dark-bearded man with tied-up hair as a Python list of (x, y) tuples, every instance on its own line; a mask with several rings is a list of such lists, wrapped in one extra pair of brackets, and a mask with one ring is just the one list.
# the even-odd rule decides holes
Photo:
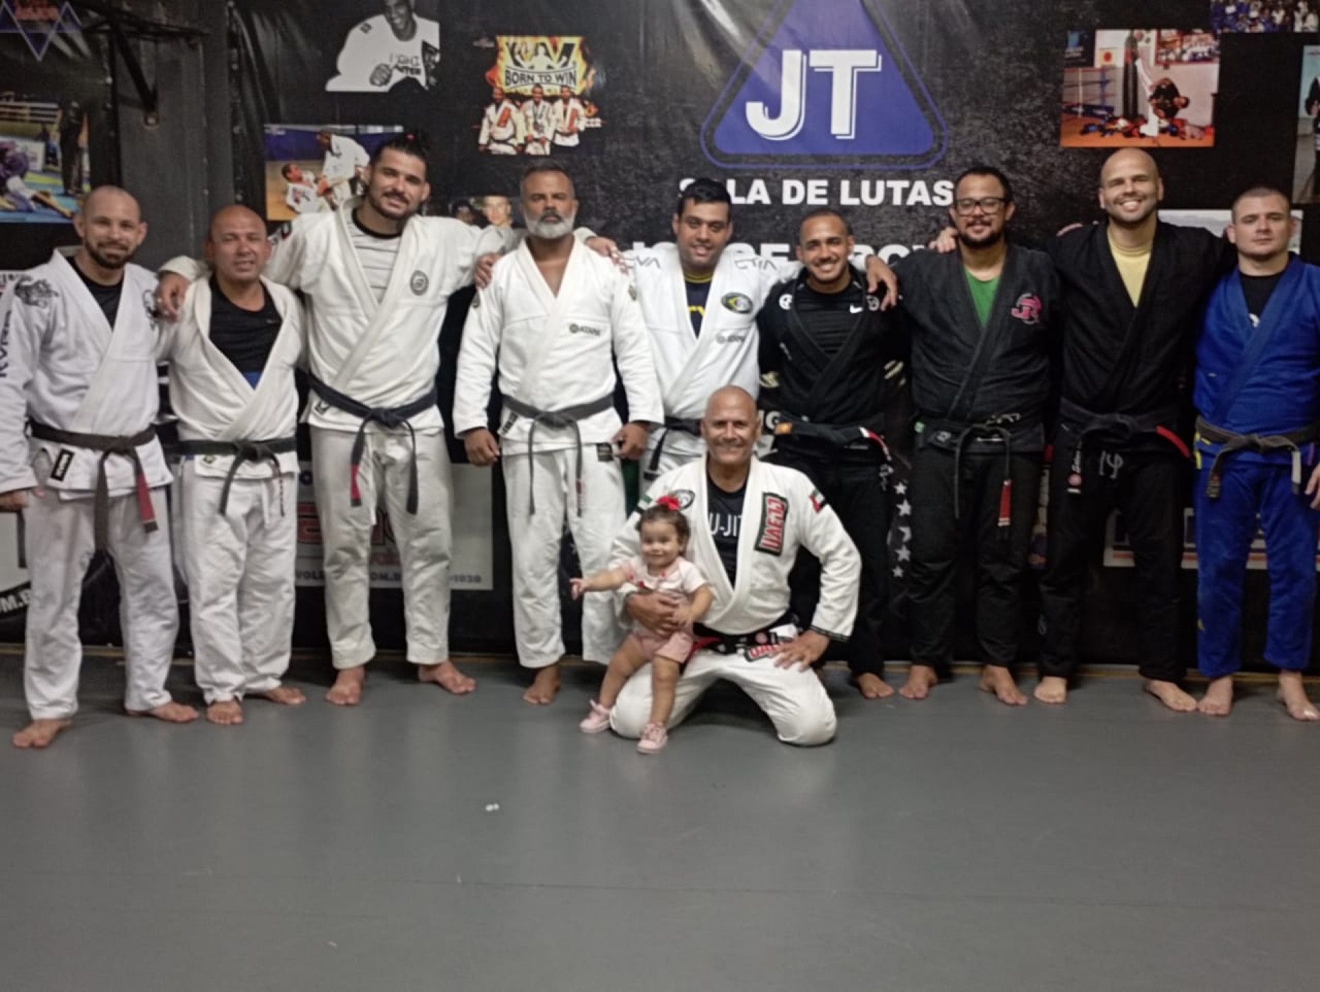
[(348, 493), (352, 431), (312, 427), (312, 466), (321, 520), (326, 576), (326, 628), (337, 669), (366, 665), (371, 638), (371, 536), (384, 504), (403, 566), (408, 661), (437, 665), (449, 658), (449, 558), (453, 481), (445, 434), (417, 431), (417, 514), (408, 512), (407, 430), (367, 429), (358, 475), (362, 505)]

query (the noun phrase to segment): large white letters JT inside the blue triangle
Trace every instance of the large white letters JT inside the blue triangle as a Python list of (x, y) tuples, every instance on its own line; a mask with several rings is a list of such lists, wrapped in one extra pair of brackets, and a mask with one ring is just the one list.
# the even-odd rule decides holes
[(771, 116), (760, 100), (746, 106), (747, 123), (762, 137), (787, 141), (796, 137), (807, 120), (807, 69), (830, 78), (829, 131), (840, 139), (857, 137), (857, 78), (879, 73), (884, 59), (869, 49), (826, 49), (801, 51), (787, 49), (780, 55), (779, 115)]

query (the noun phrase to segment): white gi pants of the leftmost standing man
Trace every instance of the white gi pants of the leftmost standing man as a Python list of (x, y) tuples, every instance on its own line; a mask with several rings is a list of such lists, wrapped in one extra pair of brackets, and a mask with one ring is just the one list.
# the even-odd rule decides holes
[[(38, 458), (34, 468), (37, 484), (44, 485), (50, 475), (49, 460)], [(158, 529), (147, 533), (137, 514), (137, 496), (112, 496), (107, 534), (119, 578), (119, 623), (128, 670), (124, 707), (139, 712), (170, 702), (165, 678), (178, 633), (164, 488), (152, 489), (152, 507)], [(22, 524), (32, 580), (24, 693), (32, 719), (67, 719), (78, 711), (78, 603), (96, 550), (91, 493), (66, 500), (54, 489), (46, 489), (44, 496), (29, 492)]]

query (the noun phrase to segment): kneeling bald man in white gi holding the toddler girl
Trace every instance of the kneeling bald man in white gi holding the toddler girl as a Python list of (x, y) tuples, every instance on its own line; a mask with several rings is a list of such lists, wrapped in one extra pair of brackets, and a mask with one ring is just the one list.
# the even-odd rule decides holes
[[(812, 671), (829, 641), (847, 640), (857, 615), (862, 559), (834, 511), (795, 468), (755, 458), (756, 401), (738, 387), (711, 394), (701, 421), (708, 455), (661, 475), (638, 512), (672, 493), (692, 525), (686, 557), (710, 583), (714, 605), (696, 625), (697, 650), (675, 691), (669, 726), (729, 679), (750, 695), (785, 744), (825, 744), (834, 706)], [(638, 551), (636, 513), (615, 540), (611, 561)], [(821, 563), (820, 602), (805, 629), (789, 609), (788, 574), (805, 547)], [(656, 633), (677, 629), (676, 604), (626, 594), (626, 611)], [(651, 718), (651, 666), (624, 685), (611, 726), (638, 737)]]

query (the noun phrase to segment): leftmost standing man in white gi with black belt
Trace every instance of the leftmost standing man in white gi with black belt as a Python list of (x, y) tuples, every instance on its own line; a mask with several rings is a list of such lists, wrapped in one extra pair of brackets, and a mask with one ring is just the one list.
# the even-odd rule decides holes
[(74, 228), (73, 257), (55, 252), (0, 297), (0, 509), (22, 512), (32, 575), (32, 722), (13, 736), (18, 748), (45, 748), (78, 710), (78, 600), (96, 549), (119, 576), (124, 707), (197, 719), (165, 690), (178, 604), (154, 427), (156, 277), (129, 264), (147, 224), (136, 199), (102, 186)]

